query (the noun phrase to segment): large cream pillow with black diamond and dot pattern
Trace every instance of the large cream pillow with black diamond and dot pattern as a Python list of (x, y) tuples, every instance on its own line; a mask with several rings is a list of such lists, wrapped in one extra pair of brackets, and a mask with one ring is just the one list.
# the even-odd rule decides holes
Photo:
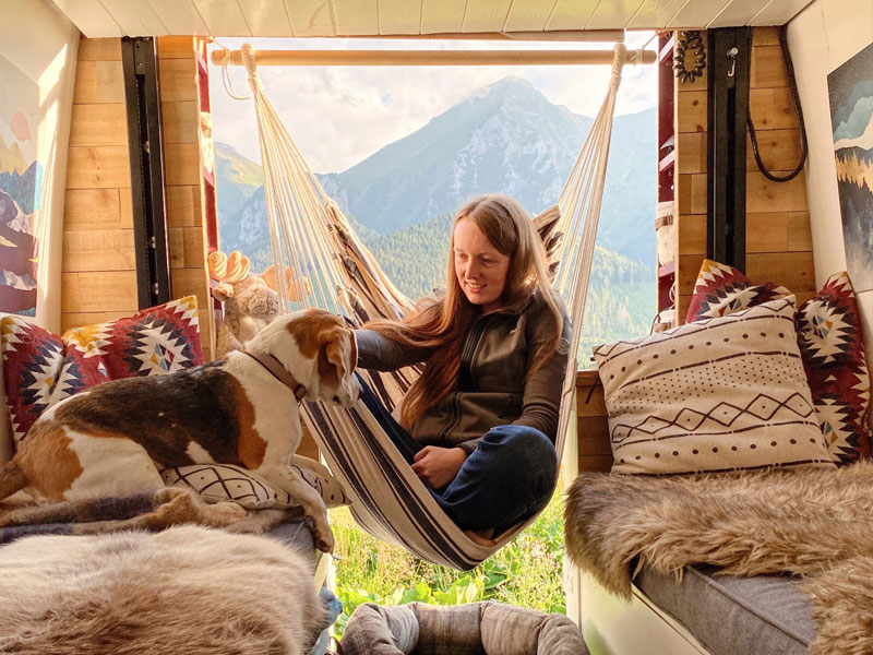
[(794, 297), (594, 356), (615, 473), (833, 466), (794, 331)]

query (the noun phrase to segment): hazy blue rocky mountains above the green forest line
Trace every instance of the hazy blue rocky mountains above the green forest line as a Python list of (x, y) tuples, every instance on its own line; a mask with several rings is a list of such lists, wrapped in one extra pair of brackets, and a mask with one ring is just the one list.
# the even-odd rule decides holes
[[(558, 201), (591, 122), (551, 104), (526, 80), (504, 78), (348, 170), (318, 177), (347, 216), (381, 235), (493, 191), (536, 214)], [(643, 262), (655, 258), (655, 133), (654, 109), (615, 117), (598, 236), (607, 250)], [(255, 219), (262, 228), (254, 230), (251, 221), (264, 212), (262, 175), (222, 143), (216, 166), (219, 180), (231, 180), (218, 187), (224, 247), (262, 249), (266, 222)]]

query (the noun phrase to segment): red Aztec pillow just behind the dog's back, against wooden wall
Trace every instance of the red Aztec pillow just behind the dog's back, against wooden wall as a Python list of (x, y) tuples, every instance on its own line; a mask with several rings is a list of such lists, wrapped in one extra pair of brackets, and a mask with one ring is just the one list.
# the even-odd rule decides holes
[(203, 364), (195, 296), (132, 317), (74, 327), (61, 338), (68, 349), (97, 362), (110, 380), (171, 373)]

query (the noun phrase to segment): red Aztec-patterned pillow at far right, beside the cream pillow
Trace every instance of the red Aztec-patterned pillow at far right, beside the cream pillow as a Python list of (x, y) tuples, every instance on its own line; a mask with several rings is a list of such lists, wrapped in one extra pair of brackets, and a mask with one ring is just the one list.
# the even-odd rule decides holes
[(836, 273), (804, 302), (798, 342), (818, 425), (837, 464), (871, 456), (870, 372), (849, 275)]

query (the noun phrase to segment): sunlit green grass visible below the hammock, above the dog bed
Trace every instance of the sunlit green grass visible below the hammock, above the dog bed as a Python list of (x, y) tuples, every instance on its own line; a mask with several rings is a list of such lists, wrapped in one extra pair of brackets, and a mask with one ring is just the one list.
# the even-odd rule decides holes
[(418, 559), (361, 529), (347, 508), (331, 510), (336, 538), (336, 594), (348, 617), (362, 603), (402, 605), (418, 600), (458, 605), (497, 600), (545, 612), (566, 614), (562, 583), (564, 527), (559, 483), (537, 521), (473, 571), (455, 571)]

